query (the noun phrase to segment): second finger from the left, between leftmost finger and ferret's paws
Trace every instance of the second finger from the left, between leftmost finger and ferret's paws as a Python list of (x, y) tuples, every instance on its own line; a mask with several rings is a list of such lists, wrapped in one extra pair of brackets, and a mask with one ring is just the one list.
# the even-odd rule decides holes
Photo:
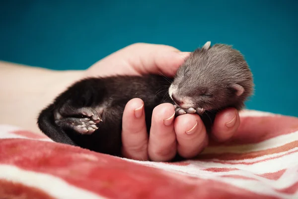
[(156, 106), (152, 113), (148, 153), (152, 161), (169, 161), (176, 155), (173, 104)]

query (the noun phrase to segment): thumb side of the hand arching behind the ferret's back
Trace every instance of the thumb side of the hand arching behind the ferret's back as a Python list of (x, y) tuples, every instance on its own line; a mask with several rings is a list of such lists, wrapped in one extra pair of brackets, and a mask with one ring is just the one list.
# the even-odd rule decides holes
[(189, 54), (189, 52), (181, 52), (168, 45), (136, 43), (95, 63), (88, 69), (88, 73), (96, 75), (100, 72), (101, 76), (149, 73), (160, 75), (162, 73), (162, 75), (172, 77)]

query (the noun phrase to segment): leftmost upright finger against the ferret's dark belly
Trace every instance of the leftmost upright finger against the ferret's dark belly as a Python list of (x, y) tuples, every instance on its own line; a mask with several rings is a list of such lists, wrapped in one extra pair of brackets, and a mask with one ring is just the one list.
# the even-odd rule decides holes
[(130, 100), (123, 112), (122, 153), (126, 158), (148, 160), (144, 102), (138, 98)]

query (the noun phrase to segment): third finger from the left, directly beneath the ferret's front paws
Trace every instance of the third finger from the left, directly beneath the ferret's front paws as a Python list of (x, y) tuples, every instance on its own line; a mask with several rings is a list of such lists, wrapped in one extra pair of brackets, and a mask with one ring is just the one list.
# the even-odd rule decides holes
[(184, 114), (175, 119), (177, 152), (183, 158), (197, 156), (208, 144), (208, 136), (202, 119), (197, 114)]

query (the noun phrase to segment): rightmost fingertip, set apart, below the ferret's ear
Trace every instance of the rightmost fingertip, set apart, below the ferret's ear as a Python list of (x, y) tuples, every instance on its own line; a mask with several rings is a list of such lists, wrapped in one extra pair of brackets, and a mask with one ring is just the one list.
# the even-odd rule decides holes
[(212, 135), (216, 141), (227, 141), (236, 133), (240, 125), (239, 113), (235, 108), (219, 112), (214, 120)]

